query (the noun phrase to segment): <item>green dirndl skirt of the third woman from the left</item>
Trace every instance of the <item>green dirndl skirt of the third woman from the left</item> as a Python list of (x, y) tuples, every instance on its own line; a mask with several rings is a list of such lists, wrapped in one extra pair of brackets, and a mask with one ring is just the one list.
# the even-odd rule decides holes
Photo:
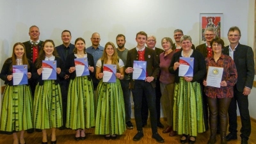
[(69, 129), (95, 126), (93, 84), (87, 76), (71, 79), (68, 86), (67, 122)]

